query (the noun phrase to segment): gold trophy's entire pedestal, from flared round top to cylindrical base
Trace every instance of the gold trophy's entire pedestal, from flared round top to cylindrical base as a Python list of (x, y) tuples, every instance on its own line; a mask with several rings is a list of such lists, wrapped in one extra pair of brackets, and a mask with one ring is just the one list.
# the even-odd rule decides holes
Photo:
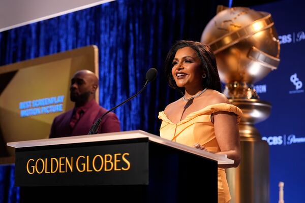
[(243, 112), (239, 123), (240, 164), (237, 168), (227, 169), (231, 202), (269, 202), (269, 146), (266, 141), (262, 141), (254, 123), (268, 118), (271, 104), (260, 99), (229, 100)]

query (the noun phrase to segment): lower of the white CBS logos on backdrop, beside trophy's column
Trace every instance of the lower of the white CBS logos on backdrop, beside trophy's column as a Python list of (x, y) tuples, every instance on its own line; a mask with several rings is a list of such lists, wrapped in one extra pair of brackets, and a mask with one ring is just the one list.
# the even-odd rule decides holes
[(267, 141), (268, 145), (292, 145), (292, 144), (299, 144), (305, 143), (305, 136), (303, 137), (296, 137), (295, 134), (290, 134), (287, 136), (284, 134), (283, 136), (269, 136), (269, 137), (262, 137), (262, 140)]

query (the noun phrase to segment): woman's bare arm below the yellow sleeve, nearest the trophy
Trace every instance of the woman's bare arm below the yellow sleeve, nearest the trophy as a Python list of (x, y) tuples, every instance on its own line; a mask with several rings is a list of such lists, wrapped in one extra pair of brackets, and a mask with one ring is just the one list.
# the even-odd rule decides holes
[(240, 162), (240, 140), (236, 115), (231, 112), (217, 112), (212, 114), (214, 119), (215, 135), (221, 152), (227, 154), (233, 164), (219, 165), (222, 168), (237, 167)]

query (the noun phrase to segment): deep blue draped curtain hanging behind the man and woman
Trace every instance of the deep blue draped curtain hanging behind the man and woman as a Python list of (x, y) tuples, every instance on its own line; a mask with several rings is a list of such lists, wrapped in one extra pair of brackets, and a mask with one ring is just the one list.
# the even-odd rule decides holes
[[(142, 129), (159, 134), (158, 112), (179, 96), (168, 88), (163, 75), (167, 51), (177, 40), (200, 41), (205, 25), (216, 14), (217, 5), (228, 2), (118, 0), (18, 27), (0, 33), (0, 65), (97, 45), (100, 105), (106, 109), (139, 91), (146, 71), (156, 67), (157, 80), (115, 113), (122, 130)], [(18, 201), (17, 189), (9, 196), (7, 190), (1, 189), (10, 185), (11, 182), (9, 186), (0, 182), (2, 202)]]

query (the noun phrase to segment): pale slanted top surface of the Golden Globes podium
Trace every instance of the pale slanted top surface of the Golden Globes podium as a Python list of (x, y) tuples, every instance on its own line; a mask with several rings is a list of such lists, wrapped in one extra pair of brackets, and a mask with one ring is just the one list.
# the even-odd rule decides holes
[(148, 138), (150, 142), (155, 142), (161, 145), (165, 145), (185, 152), (189, 152), (191, 154), (196, 154), (201, 157), (209, 158), (217, 161), (218, 164), (234, 163), (234, 160), (228, 159), (227, 155), (225, 154), (214, 154), (193, 147), (189, 147), (186, 145), (182, 145), (179, 143), (175, 143), (142, 130), (111, 132), (111, 133), (103, 133), (103, 134), (92, 134), (85, 136), (41, 139), (41, 140), (31, 140), (31, 141), (20, 141), (20, 142), (7, 143), (7, 145), (14, 148), (24, 148), (24, 147), (39, 147), (39, 146), (89, 143), (89, 142), (101, 142), (101, 141), (129, 140), (129, 139), (138, 139), (138, 138)]

